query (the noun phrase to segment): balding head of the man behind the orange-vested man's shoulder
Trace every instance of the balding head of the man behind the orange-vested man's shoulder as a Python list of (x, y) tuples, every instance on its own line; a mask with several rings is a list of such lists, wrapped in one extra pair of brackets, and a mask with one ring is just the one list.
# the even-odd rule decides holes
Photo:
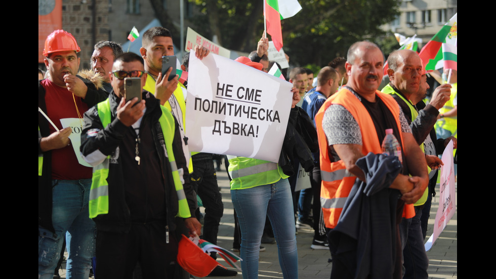
[(391, 84), (409, 98), (419, 92), (422, 60), (411, 50), (397, 50), (388, 58), (388, 75)]

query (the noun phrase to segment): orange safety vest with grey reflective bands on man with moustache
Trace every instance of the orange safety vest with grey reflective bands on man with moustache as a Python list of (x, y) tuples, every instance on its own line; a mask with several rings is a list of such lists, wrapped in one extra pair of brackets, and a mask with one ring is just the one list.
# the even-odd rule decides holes
[[(398, 103), (389, 95), (376, 91), (376, 96), (386, 104), (389, 110), (394, 115), (398, 130), (401, 131), (399, 122), (399, 107)], [(353, 95), (348, 89), (341, 89), (338, 93), (329, 97), (320, 107), (315, 115), (315, 124), (317, 127), (317, 135), (320, 147), (320, 173), (322, 184), (320, 189), (320, 204), (324, 215), (325, 226), (328, 228), (336, 227), (343, 206), (350, 194), (351, 188), (355, 183), (356, 176), (346, 170), (346, 166), (342, 160), (338, 162), (330, 162), (329, 146), (324, 130), (322, 129), (322, 118), (325, 110), (332, 104), (339, 104), (345, 107), (355, 118), (362, 135), (362, 153), (365, 156), (368, 152), (375, 154), (382, 153), (381, 144), (377, 137), (376, 128), (372, 118), (368, 114), (363, 104), (358, 98)], [(403, 136), (400, 133), (400, 140), (403, 142)], [(411, 218), (415, 216), (413, 205), (405, 205), (403, 217)]]

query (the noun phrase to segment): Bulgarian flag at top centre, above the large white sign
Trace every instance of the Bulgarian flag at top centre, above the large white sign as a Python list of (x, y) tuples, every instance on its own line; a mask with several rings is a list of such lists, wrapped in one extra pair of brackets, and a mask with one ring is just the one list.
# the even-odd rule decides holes
[(272, 42), (277, 51), (282, 48), (281, 19), (296, 15), (301, 6), (298, 0), (264, 0), (264, 16), (267, 23), (267, 33), (272, 36)]

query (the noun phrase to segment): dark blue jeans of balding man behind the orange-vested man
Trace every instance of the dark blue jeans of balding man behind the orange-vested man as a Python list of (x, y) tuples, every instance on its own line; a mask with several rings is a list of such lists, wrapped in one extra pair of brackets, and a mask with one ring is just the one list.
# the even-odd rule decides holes
[(415, 216), (401, 220), (400, 235), (403, 246), (403, 279), (428, 277), (429, 258), (424, 247), (420, 219), (423, 206), (415, 207)]

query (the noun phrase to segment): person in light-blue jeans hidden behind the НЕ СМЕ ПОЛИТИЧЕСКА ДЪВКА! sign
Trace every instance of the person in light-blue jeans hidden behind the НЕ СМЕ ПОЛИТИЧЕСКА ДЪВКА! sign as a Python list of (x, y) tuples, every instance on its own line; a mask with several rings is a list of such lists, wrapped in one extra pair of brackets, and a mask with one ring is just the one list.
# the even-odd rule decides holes
[[(249, 58), (236, 61), (262, 70)], [(294, 108), (300, 101), (293, 88)], [(293, 115), (293, 114), (292, 114)], [(229, 156), (231, 197), (241, 230), (240, 257), (243, 278), (258, 278), (258, 261), (265, 216), (269, 216), (277, 241), (279, 264), (284, 278), (298, 278), (295, 216), (290, 183), (277, 163)]]

